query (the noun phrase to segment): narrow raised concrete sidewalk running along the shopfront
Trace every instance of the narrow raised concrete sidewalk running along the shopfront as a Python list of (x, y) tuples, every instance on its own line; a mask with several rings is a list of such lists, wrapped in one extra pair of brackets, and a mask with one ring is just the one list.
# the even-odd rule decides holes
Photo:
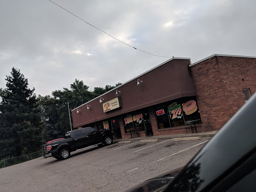
[(135, 142), (138, 140), (148, 140), (148, 139), (166, 139), (166, 138), (182, 138), (182, 137), (207, 137), (207, 136), (213, 136), (217, 130), (212, 130), (208, 132), (198, 132), (198, 133), (180, 133), (180, 134), (166, 134), (166, 135), (156, 135), (156, 136), (142, 136), (142, 137), (136, 137), (136, 138), (116, 138), (114, 139), (114, 142), (119, 142), (119, 141), (131, 141)]

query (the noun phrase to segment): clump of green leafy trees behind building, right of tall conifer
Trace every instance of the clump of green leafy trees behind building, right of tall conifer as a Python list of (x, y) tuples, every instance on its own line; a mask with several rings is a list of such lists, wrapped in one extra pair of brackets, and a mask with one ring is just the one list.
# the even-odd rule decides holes
[[(119, 84), (121, 83), (117, 83), (115, 86)], [(94, 87), (94, 91), (89, 91), (89, 86), (85, 85), (82, 80), (75, 79), (70, 84), (70, 89), (63, 88), (63, 90), (52, 91), (52, 97), (49, 95), (39, 95), (41, 115), (44, 121), (44, 141), (63, 137), (65, 132), (70, 130), (67, 102), (71, 110), (115, 86), (106, 85), (105, 88)], [(71, 111), (69, 112), (71, 115)]]

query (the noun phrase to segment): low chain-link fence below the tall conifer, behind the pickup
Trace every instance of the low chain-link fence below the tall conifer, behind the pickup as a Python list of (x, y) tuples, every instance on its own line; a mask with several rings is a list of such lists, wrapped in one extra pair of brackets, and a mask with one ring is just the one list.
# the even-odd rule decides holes
[(42, 156), (42, 151), (36, 151), (29, 154), (21, 155), (21, 156), (15, 156), (12, 158), (3, 159), (3, 160), (0, 160), (0, 168), (25, 162), (34, 158), (38, 158), (40, 156)]

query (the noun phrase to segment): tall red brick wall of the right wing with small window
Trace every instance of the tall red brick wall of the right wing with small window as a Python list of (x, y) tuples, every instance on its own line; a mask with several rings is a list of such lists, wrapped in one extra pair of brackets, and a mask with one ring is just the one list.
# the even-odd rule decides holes
[[(245, 103), (242, 89), (256, 91), (256, 58), (213, 56), (190, 66), (202, 122), (218, 130)], [(242, 78), (244, 80), (242, 80)]]

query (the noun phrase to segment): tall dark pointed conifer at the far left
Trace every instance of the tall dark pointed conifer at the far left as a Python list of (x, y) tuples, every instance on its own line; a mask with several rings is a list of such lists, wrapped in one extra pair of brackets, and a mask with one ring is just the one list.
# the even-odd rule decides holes
[(6, 88), (0, 91), (0, 158), (19, 156), (39, 149), (41, 118), (34, 88), (27, 78), (12, 67), (6, 76)]

